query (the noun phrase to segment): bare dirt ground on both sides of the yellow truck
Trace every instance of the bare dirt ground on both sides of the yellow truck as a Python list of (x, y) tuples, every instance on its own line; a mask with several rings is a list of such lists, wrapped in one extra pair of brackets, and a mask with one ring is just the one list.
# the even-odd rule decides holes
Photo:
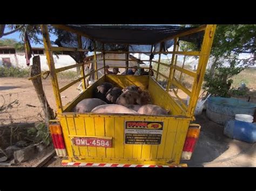
[[(73, 79), (60, 79), (60, 88)], [(78, 83), (64, 91), (61, 96), (63, 104), (72, 101), (79, 95), (76, 89)], [(43, 87), (51, 107), (56, 110), (50, 79), (43, 80)], [(182, 98), (186, 98), (185, 96)], [(244, 100), (247, 98), (245, 97)], [(18, 100), (13, 108), (0, 114), (0, 125), (21, 122), (43, 121), (42, 106), (40, 105), (32, 82), (24, 78), (2, 77), (0, 79), (0, 105)], [(256, 102), (256, 98), (251, 100)], [(31, 106), (32, 105), (32, 106)], [(188, 166), (254, 166), (256, 167), (256, 144), (248, 144), (232, 140), (223, 135), (224, 127), (207, 119), (205, 112), (196, 117), (196, 123), (201, 125), (201, 133), (196, 150), (189, 161), (182, 161)], [(60, 166), (60, 158), (52, 158), (45, 166)]]

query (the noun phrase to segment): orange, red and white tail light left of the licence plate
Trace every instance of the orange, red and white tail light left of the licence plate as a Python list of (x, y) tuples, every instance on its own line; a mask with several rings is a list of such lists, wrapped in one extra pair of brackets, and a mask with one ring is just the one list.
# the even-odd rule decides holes
[(50, 124), (49, 129), (51, 132), (53, 146), (55, 148), (56, 154), (60, 157), (66, 156), (66, 147), (62, 135), (62, 128), (60, 124)]

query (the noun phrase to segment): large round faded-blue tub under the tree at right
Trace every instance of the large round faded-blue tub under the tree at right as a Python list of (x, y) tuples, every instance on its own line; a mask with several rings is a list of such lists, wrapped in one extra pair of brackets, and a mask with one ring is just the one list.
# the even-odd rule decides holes
[(235, 114), (254, 115), (256, 104), (235, 98), (209, 97), (207, 99), (206, 116), (220, 125), (234, 119)]

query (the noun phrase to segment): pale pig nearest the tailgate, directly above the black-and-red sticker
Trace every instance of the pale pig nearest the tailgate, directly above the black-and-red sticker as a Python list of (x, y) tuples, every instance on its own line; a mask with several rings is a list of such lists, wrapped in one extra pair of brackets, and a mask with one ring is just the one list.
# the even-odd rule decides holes
[(168, 115), (168, 111), (158, 105), (147, 104), (139, 108), (138, 114), (146, 115)]

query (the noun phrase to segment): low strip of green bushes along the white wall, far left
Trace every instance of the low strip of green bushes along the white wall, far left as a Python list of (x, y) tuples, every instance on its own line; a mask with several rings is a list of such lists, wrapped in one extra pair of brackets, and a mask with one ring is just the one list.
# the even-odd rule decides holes
[(28, 77), (29, 68), (0, 67), (0, 77)]

